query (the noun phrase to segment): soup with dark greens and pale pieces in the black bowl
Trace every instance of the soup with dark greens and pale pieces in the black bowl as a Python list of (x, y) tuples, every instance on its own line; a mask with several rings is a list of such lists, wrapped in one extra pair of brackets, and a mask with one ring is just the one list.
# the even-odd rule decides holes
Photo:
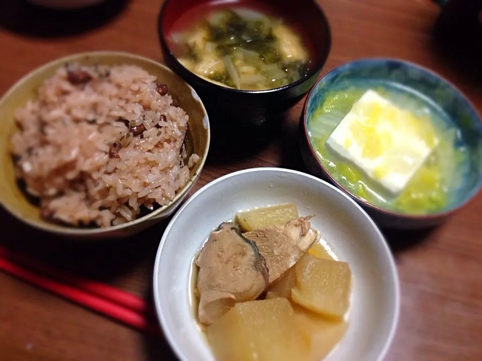
[[(209, 5), (209, 3), (207, 3)], [(240, 4), (203, 6), (173, 26), (169, 46), (189, 71), (243, 90), (282, 87), (308, 75), (311, 51), (280, 16)]]

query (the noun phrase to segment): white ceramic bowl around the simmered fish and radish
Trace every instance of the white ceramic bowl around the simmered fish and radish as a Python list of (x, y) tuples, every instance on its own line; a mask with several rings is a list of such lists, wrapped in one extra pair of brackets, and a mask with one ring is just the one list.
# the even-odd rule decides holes
[(190, 268), (209, 233), (237, 211), (294, 202), (301, 215), (314, 214), (319, 229), (354, 276), (349, 328), (329, 361), (383, 359), (397, 327), (400, 290), (397, 269), (382, 234), (349, 196), (305, 173), (254, 168), (207, 184), (177, 211), (167, 226), (154, 266), (159, 321), (183, 361), (213, 361), (198, 329), (189, 297)]

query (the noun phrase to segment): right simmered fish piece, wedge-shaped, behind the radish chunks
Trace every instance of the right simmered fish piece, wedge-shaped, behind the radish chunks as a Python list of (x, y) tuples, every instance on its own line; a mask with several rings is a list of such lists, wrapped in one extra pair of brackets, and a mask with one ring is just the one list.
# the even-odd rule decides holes
[(310, 218), (299, 217), (284, 225), (243, 233), (256, 244), (266, 260), (269, 284), (293, 267), (318, 239), (318, 231), (311, 228)]

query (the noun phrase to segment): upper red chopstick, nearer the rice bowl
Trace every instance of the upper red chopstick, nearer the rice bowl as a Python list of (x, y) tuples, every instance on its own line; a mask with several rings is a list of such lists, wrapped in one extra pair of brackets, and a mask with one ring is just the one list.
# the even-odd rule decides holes
[(78, 288), (92, 295), (97, 295), (101, 298), (116, 303), (120, 306), (129, 308), (141, 314), (146, 314), (150, 316), (154, 315), (154, 310), (146, 303), (144, 299), (134, 296), (128, 292), (121, 291), (104, 283), (81, 278), (79, 276), (46, 265), (33, 259), (32, 257), (9, 250), (2, 246), (0, 246), (0, 258), (4, 258), (7, 261), (14, 262), (28, 269), (33, 269), (35, 271), (41, 272), (49, 278), (59, 280), (74, 288)]

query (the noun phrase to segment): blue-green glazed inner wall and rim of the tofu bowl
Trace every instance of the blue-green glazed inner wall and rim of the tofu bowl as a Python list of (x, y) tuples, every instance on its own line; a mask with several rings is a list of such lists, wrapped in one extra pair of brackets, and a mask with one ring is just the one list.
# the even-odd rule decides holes
[[(468, 150), (468, 157), (457, 165), (461, 173), (460, 184), (452, 190), (446, 206), (437, 212), (416, 215), (397, 213), (377, 207), (359, 198), (338, 183), (326, 170), (316, 155), (308, 134), (315, 110), (323, 104), (325, 95), (331, 90), (344, 90), (353, 84), (379, 84), (403, 89), (422, 99), (427, 106), (442, 114), (441, 121), (455, 127), (461, 133), (462, 145)], [(470, 102), (448, 81), (418, 65), (395, 59), (363, 59), (339, 66), (325, 74), (310, 92), (304, 110), (304, 137), (311, 157), (323, 175), (337, 187), (348, 193), (369, 210), (401, 218), (438, 218), (463, 206), (482, 186), (482, 123)]]

